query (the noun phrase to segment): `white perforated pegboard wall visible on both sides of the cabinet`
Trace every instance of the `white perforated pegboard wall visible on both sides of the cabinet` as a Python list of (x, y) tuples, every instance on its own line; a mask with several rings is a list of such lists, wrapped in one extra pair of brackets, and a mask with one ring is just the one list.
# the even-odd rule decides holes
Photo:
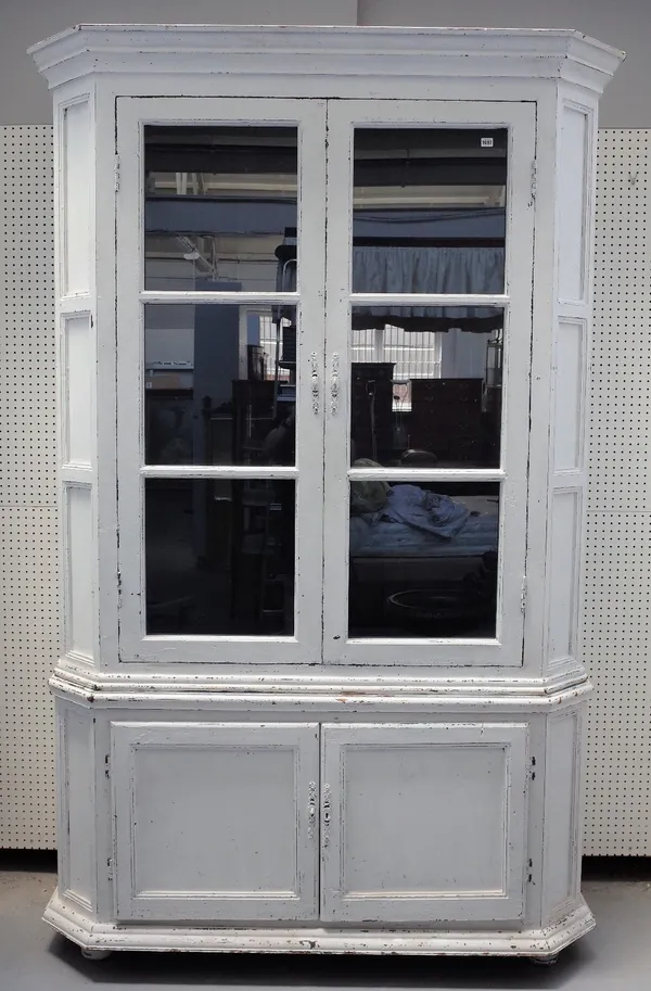
[[(52, 130), (2, 130), (0, 847), (54, 847), (59, 650)], [(651, 131), (599, 136), (585, 852), (651, 855)]]

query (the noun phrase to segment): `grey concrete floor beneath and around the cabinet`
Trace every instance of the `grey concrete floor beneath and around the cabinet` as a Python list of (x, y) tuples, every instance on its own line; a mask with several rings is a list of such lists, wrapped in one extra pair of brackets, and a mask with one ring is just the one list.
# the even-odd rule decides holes
[[(53, 933), (40, 916), (52, 871), (3, 857), (0, 866), (0, 991), (191, 989), (651, 989), (651, 876), (588, 877), (584, 892), (598, 928), (565, 950), (553, 967), (526, 961), (435, 957), (248, 956), (115, 953), (102, 963)], [(42, 865), (41, 865), (42, 867)]]

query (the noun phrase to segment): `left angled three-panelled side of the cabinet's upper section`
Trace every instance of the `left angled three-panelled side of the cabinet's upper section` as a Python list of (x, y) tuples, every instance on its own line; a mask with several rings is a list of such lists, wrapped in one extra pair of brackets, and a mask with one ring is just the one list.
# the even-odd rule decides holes
[(54, 205), (58, 447), (64, 656), (99, 662), (95, 406), (94, 87), (55, 94)]

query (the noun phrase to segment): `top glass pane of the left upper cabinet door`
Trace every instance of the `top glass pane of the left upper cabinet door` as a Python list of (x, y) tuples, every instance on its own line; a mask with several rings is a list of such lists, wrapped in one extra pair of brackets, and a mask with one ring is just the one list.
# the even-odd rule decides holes
[(145, 127), (144, 173), (145, 289), (294, 288), (295, 127)]

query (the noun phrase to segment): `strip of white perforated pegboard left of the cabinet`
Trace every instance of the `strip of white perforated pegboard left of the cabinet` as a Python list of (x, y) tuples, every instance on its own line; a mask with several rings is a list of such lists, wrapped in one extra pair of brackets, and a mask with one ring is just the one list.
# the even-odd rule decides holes
[(0, 130), (0, 847), (52, 849), (47, 681), (60, 637), (52, 128)]

